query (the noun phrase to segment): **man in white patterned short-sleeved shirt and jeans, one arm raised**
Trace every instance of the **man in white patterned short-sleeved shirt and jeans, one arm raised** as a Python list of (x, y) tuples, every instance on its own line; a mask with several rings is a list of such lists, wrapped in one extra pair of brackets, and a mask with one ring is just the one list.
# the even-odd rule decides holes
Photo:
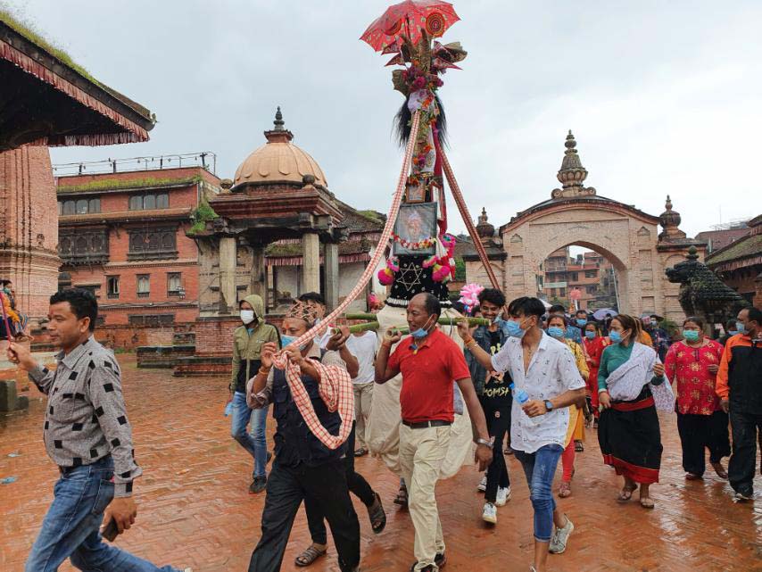
[[(549, 549), (554, 554), (565, 551), (574, 530), (571, 520), (556, 510), (551, 487), (564, 450), (568, 407), (584, 400), (585, 383), (567, 344), (543, 332), (542, 301), (517, 298), (509, 304), (508, 313), (504, 327), (510, 337), (494, 356), (468, 340), (465, 323), (458, 331), (480, 364), (489, 370), (508, 371), (515, 384), (510, 447), (524, 468), (534, 508), (534, 566), (530, 569), (545, 572)], [(522, 392), (528, 400), (521, 399)]]

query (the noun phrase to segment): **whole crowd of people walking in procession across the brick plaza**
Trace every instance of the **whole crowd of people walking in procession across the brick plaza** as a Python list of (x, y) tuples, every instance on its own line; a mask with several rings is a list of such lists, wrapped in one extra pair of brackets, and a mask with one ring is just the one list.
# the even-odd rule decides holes
[[(326, 304), (316, 293), (295, 301), (279, 328), (264, 319), (259, 296), (240, 302), (229, 384), (231, 435), (253, 458), (249, 491), (266, 495), (250, 572), (281, 568), (302, 502), (311, 544), (295, 564), (306, 567), (326, 554), (327, 522), (339, 568), (360, 569), (360, 519), (350, 493), (365, 505), (374, 533), (385, 529), (386, 514), (355, 458), (372, 449), (366, 429), (374, 386), (398, 376), (401, 492), (395, 502), (407, 505), (415, 530), (413, 571), (436, 572), (447, 561), (435, 487), (459, 414), (468, 413), (474, 460), (486, 471), (477, 486), (485, 494), (486, 523), (496, 525), (498, 509), (510, 500), (505, 455), (514, 455), (523, 469), (534, 510), (533, 572), (545, 572), (549, 554), (566, 551), (574, 531), (556, 497), (572, 494), (585, 429), (597, 431), (603, 461), (623, 479), (612, 502), (629, 502), (639, 490), (640, 505), (655, 508), (650, 485), (658, 483), (661, 467), (658, 410), (676, 414), (686, 479), (703, 477), (708, 449), (716, 475), (733, 487), (733, 500), (753, 498), (762, 432), (762, 311), (742, 310), (720, 341), (705, 335), (700, 318), (686, 318), (681, 339), (673, 341), (656, 316), (598, 321), (587, 311), (569, 314), (533, 297), (508, 302), (493, 288), (478, 299), (476, 311), (489, 325), (469, 327), (461, 319), (462, 347), (437, 326), (442, 307), (432, 294), (408, 303), (410, 336), (394, 327), (350, 334), (347, 327), (326, 325)], [(57, 368), (38, 365), (19, 343), (8, 349), (9, 359), (48, 395), (43, 436), (61, 472), (26, 570), (53, 571), (69, 558), (83, 570), (178, 572), (103, 541), (134, 523), (133, 481), (142, 472), (120, 368), (95, 341), (92, 294), (67, 290), (50, 303), (48, 330), (61, 350)], [(319, 324), (330, 327), (294, 344)], [(272, 453), (266, 439), (270, 406)]]

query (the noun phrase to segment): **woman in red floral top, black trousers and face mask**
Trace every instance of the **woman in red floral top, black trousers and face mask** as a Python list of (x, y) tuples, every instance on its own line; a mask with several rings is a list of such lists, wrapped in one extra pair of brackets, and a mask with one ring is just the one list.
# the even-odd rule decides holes
[(675, 383), (677, 430), (683, 445), (683, 469), (688, 480), (704, 475), (705, 453), (717, 476), (727, 478), (722, 458), (730, 455), (727, 413), (715, 393), (716, 372), (724, 348), (702, 334), (704, 322), (683, 322), (683, 340), (669, 348), (664, 361), (667, 378)]

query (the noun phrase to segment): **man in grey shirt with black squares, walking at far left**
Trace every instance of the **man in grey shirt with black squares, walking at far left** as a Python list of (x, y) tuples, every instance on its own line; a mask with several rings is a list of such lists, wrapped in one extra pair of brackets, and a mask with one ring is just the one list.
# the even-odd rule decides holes
[(97, 315), (95, 296), (87, 290), (51, 296), (47, 329), (61, 349), (53, 371), (40, 367), (20, 344), (8, 348), (8, 359), (48, 396), (43, 436), (61, 473), (25, 570), (53, 572), (69, 558), (81, 570), (179, 572), (110, 546), (99, 533), (102, 522), (113, 519), (119, 533), (135, 522), (132, 483), (143, 471), (132, 449), (119, 365), (93, 336)]

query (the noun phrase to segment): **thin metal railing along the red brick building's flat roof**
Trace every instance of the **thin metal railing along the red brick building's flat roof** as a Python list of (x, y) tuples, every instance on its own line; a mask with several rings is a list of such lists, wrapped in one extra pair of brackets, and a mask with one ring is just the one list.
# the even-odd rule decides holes
[(128, 159), (104, 159), (103, 161), (80, 161), (57, 163), (53, 166), (54, 177), (67, 175), (99, 175), (103, 173), (127, 173), (137, 170), (178, 169), (201, 167), (217, 174), (217, 154), (211, 151), (178, 153), (172, 155), (146, 155)]

